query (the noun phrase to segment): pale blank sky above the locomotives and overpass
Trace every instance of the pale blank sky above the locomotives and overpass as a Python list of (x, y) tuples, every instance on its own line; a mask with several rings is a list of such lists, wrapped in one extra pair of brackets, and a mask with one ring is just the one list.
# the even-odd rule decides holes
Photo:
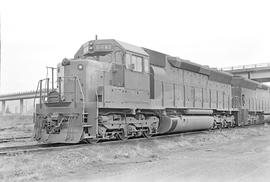
[(46, 66), (96, 34), (210, 67), (270, 62), (269, 9), (260, 0), (0, 0), (0, 93), (35, 90)]

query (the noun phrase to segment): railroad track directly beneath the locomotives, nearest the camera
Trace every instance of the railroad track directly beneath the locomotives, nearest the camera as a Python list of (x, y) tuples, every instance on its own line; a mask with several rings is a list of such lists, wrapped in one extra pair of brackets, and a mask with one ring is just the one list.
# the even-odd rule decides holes
[[(256, 126), (256, 125), (255, 125)], [(258, 126), (258, 125), (257, 125)], [(254, 127), (254, 126), (249, 126)], [(244, 126), (242, 128), (249, 128)], [(240, 129), (238, 128), (230, 128), (230, 130)], [(222, 129), (224, 130), (224, 129)], [(156, 135), (151, 138), (132, 138), (129, 140), (104, 140), (98, 143), (98, 145), (121, 145), (121, 144), (128, 144), (133, 143), (135, 141), (142, 141), (147, 142), (151, 140), (157, 139), (168, 139), (168, 138), (176, 138), (179, 136), (187, 136), (187, 135), (195, 135), (195, 134), (209, 134), (212, 132), (217, 132), (222, 130), (204, 130), (204, 131), (194, 131), (194, 132), (187, 132), (187, 133), (177, 133), (177, 134), (162, 134)], [(227, 129), (225, 129), (227, 130)], [(90, 144), (91, 145), (91, 144)], [(89, 147), (87, 143), (79, 143), (79, 144), (36, 144), (36, 145), (22, 145), (22, 146), (12, 146), (12, 147), (2, 147), (0, 148), (0, 155), (16, 155), (22, 153), (34, 153), (34, 152), (50, 152), (50, 151), (61, 151), (63, 149), (73, 149), (73, 148), (83, 148)]]

